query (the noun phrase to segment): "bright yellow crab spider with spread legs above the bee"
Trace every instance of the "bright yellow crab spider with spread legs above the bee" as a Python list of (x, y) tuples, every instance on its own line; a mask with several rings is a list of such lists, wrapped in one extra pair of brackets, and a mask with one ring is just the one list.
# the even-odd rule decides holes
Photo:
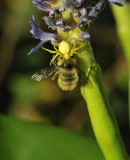
[(62, 41), (59, 44), (59, 50), (54, 46), (55, 51), (43, 48), (44, 50), (50, 52), (50, 53), (55, 53), (56, 55), (52, 58), (51, 62), (50, 62), (50, 66), (51, 64), (54, 62), (54, 60), (56, 59), (57, 56), (62, 57), (63, 59), (67, 60), (69, 59), (71, 56), (73, 56), (73, 54), (77, 54), (79, 55), (79, 53), (77, 53), (76, 51), (79, 50), (80, 48), (82, 48), (85, 44), (82, 44), (81, 46), (76, 48), (76, 44), (74, 43), (73, 48), (71, 49), (70, 45), (68, 42), (66, 41)]

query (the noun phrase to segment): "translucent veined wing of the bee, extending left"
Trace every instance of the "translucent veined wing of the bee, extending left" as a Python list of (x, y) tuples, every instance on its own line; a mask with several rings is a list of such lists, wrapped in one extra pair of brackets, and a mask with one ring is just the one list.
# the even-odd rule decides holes
[(50, 67), (50, 68), (44, 68), (40, 70), (39, 72), (36, 72), (34, 75), (32, 75), (31, 79), (36, 80), (36, 81), (41, 81), (49, 76), (51, 76), (53, 73), (55, 73), (57, 70), (56, 67)]

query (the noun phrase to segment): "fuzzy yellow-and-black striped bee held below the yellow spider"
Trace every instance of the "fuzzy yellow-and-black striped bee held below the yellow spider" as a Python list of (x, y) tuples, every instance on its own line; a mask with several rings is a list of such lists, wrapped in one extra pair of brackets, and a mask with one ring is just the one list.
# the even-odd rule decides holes
[(52, 80), (57, 80), (58, 86), (64, 91), (72, 91), (78, 85), (79, 79), (87, 79), (77, 66), (75, 57), (64, 60), (60, 56), (56, 58), (53, 67), (45, 68), (35, 73), (31, 78), (36, 81), (41, 81), (49, 76)]

